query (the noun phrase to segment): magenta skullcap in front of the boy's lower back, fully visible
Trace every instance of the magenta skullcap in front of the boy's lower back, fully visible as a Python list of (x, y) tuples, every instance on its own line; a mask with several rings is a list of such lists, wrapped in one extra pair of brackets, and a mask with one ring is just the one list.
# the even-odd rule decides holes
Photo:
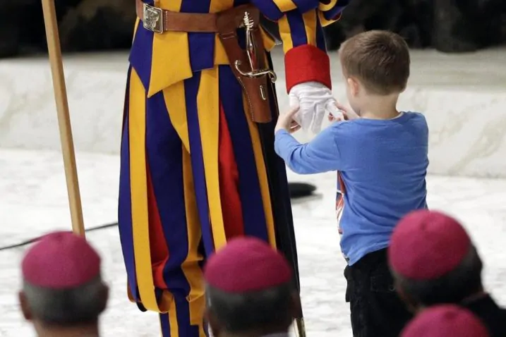
[(424, 209), (399, 221), (388, 259), (392, 270), (401, 276), (431, 280), (454, 270), (470, 247), (471, 239), (457, 220)]

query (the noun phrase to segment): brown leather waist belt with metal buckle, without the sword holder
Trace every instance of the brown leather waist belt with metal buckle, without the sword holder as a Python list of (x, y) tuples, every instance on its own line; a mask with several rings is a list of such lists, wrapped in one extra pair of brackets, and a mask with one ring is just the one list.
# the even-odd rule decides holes
[(218, 32), (215, 13), (180, 13), (167, 11), (135, 0), (137, 16), (152, 32)]

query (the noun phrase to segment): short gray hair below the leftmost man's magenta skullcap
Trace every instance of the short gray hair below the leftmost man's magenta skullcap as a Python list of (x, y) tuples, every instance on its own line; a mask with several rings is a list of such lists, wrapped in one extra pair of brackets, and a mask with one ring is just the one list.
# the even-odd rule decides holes
[(107, 286), (100, 276), (68, 289), (42, 288), (23, 281), (23, 293), (33, 317), (56, 326), (93, 323), (107, 305)]

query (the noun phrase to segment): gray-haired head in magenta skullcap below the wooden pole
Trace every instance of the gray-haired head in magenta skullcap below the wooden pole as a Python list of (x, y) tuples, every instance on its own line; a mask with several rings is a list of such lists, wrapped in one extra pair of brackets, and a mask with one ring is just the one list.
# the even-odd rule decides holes
[(100, 274), (100, 256), (70, 232), (45, 235), (22, 262), (23, 316), (38, 336), (99, 336), (98, 319), (109, 289)]

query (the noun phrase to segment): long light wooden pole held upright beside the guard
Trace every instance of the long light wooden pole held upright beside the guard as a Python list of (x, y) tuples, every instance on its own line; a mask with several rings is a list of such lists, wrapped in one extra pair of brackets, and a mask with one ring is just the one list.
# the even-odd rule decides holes
[(58, 113), (61, 152), (64, 156), (65, 178), (67, 183), (68, 203), (71, 209), (72, 230), (78, 235), (85, 235), (83, 207), (80, 200), (79, 180), (76, 167), (76, 154), (72, 139), (71, 118), (68, 114), (68, 100), (64, 76), (64, 63), (61, 58), (60, 37), (56, 21), (54, 0), (42, 0), (44, 25), (46, 26), (47, 49), (53, 77), (54, 99)]

